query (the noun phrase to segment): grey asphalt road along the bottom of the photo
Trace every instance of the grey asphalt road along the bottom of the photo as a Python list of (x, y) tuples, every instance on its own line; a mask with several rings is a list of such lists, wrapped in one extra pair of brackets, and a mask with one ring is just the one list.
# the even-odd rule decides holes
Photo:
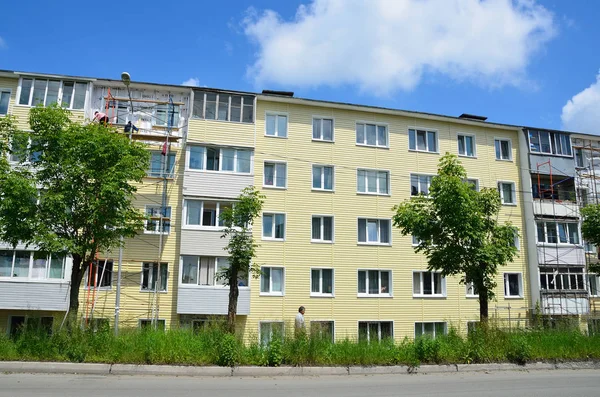
[(280, 378), (0, 375), (0, 396), (600, 396), (600, 371)]

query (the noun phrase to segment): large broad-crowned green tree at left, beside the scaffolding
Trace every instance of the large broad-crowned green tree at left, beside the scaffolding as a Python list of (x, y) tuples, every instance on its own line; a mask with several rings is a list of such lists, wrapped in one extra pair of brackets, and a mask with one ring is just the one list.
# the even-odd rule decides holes
[(132, 200), (149, 154), (110, 128), (69, 116), (58, 106), (31, 109), (30, 132), (0, 119), (0, 240), (72, 256), (69, 311), (76, 316), (96, 253), (143, 228), (145, 216)]

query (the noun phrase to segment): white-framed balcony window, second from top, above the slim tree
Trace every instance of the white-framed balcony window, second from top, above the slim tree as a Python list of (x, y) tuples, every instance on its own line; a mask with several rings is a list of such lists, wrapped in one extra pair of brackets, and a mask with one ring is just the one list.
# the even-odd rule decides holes
[(252, 150), (190, 146), (187, 168), (190, 170), (238, 172), (252, 170)]

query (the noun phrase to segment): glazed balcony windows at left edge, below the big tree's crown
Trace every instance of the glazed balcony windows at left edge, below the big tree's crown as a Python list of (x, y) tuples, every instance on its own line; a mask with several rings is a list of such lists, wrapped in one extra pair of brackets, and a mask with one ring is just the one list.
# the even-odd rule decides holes
[(64, 279), (65, 257), (38, 251), (0, 250), (0, 277)]

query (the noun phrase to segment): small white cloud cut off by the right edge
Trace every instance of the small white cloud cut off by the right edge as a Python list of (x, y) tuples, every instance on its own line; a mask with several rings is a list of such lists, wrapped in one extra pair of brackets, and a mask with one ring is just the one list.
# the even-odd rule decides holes
[(600, 70), (594, 84), (567, 101), (560, 118), (565, 130), (600, 135)]

